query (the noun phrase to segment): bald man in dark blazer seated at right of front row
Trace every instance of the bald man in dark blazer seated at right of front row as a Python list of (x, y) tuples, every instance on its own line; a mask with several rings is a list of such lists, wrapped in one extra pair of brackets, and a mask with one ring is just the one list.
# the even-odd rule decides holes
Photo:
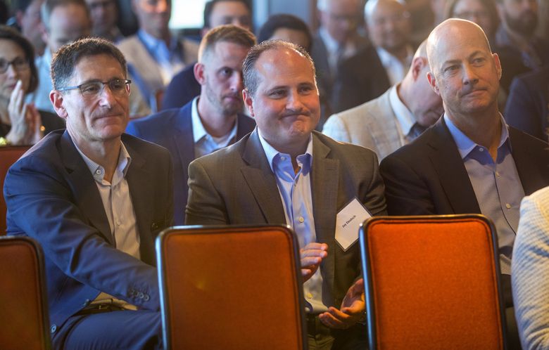
[(429, 35), (427, 74), (443, 117), (381, 162), (389, 214), (466, 214), (498, 232), (508, 349), (520, 349), (512, 309), (512, 245), (524, 195), (549, 185), (547, 143), (508, 127), (498, 110), (501, 66), (481, 27), (450, 19)]

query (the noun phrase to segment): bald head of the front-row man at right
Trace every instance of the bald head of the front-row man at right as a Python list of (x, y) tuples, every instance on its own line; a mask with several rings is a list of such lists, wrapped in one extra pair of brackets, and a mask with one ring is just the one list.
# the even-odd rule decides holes
[(500, 61), (479, 25), (445, 20), (427, 39), (427, 57), (429, 84), (441, 96), (450, 119), (498, 112)]

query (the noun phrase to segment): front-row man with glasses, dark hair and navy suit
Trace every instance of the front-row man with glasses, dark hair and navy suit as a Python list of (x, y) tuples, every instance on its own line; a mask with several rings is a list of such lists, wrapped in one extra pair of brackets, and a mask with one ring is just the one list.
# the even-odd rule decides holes
[(103, 39), (51, 63), (53, 131), (8, 171), (8, 235), (44, 249), (53, 349), (158, 349), (154, 238), (172, 224), (167, 150), (123, 134), (126, 61)]

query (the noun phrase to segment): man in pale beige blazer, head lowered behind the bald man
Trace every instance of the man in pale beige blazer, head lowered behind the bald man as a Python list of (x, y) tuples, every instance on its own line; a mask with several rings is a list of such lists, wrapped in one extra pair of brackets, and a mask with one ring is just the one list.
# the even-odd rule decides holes
[(378, 98), (329, 117), (322, 132), (338, 141), (370, 148), (381, 161), (415, 139), (444, 112), (429, 85), (426, 41), (403, 81)]

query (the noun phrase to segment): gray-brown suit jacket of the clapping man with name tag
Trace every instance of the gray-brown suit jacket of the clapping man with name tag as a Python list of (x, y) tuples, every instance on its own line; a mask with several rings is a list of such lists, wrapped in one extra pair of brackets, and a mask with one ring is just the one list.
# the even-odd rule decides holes
[[(313, 215), (318, 242), (328, 245), (320, 271), (324, 304), (339, 308), (360, 276), (360, 249), (346, 252), (334, 238), (336, 214), (357, 197), (372, 215), (385, 214), (384, 185), (370, 150), (313, 131)], [(189, 165), (187, 225), (286, 224), (274, 174), (258, 131)]]

